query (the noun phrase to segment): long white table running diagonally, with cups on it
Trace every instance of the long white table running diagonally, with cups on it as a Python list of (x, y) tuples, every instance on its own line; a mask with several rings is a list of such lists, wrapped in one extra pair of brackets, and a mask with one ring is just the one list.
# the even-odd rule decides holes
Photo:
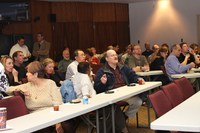
[[(124, 86), (115, 89), (112, 94), (101, 93), (89, 99), (89, 104), (63, 104), (60, 111), (55, 112), (53, 108), (48, 108), (25, 116), (7, 121), (12, 128), (5, 133), (25, 133), (34, 132), (42, 128), (54, 125), (65, 120), (98, 110), (120, 100), (140, 94), (150, 89), (161, 86), (161, 82), (146, 82), (145, 85)], [(113, 118), (114, 119), (114, 118)]]

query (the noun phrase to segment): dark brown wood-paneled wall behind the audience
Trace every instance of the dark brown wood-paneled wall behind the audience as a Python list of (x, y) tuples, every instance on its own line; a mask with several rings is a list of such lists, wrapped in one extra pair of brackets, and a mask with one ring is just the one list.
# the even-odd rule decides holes
[[(50, 14), (56, 15), (56, 22), (50, 21)], [(95, 46), (103, 52), (108, 45), (118, 44), (122, 51), (130, 43), (128, 4), (30, 0), (30, 16), (28, 22), (7, 25), (4, 34), (34, 37), (42, 31), (52, 44), (54, 59), (65, 47), (74, 51)]]

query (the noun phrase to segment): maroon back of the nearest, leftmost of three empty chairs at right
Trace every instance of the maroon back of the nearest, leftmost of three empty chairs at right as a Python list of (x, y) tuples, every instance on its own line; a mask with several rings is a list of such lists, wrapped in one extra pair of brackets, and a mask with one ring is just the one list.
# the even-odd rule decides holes
[(148, 99), (151, 102), (157, 117), (162, 116), (173, 108), (169, 99), (162, 90), (148, 95)]

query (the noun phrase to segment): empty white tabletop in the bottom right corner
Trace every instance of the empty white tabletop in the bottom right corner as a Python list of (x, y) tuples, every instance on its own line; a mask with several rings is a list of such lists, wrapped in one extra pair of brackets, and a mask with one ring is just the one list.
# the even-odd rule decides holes
[(200, 132), (200, 92), (151, 123), (153, 130)]

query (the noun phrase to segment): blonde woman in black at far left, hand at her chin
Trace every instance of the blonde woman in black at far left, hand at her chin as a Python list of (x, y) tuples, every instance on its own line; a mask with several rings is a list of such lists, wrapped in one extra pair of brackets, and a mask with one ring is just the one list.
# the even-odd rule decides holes
[(13, 59), (10, 56), (1, 58), (1, 63), (5, 68), (5, 75), (8, 79), (9, 86), (19, 85), (18, 72), (14, 69)]

